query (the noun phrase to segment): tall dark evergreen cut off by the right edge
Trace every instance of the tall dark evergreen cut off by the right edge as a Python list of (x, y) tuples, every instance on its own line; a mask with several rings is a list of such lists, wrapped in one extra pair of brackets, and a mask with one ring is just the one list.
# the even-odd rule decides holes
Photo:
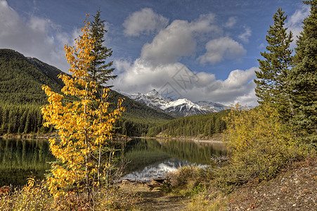
[(295, 68), (288, 82), (295, 110), (293, 124), (303, 139), (317, 142), (317, 0), (303, 2), (311, 6), (311, 11), (303, 21), (295, 49)]

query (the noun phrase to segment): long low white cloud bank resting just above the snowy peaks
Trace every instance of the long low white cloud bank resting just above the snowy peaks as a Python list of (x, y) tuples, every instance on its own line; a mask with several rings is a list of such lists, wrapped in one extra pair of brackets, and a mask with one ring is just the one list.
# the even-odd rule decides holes
[(254, 70), (233, 70), (225, 80), (216, 79), (214, 74), (193, 72), (182, 63), (153, 67), (143, 60), (134, 63), (116, 61), (120, 72), (114, 81), (115, 87), (127, 93), (147, 93), (152, 89), (164, 94), (168, 91), (174, 98), (189, 98), (191, 101), (213, 101), (230, 105), (257, 105), (254, 94)]

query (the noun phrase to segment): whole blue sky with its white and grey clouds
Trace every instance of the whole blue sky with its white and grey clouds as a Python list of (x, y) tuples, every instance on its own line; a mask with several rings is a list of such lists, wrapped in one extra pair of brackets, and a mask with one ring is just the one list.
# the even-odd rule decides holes
[(309, 15), (299, 0), (0, 0), (0, 49), (68, 73), (64, 46), (100, 8), (114, 89), (256, 106), (254, 71), (279, 7), (296, 41)]

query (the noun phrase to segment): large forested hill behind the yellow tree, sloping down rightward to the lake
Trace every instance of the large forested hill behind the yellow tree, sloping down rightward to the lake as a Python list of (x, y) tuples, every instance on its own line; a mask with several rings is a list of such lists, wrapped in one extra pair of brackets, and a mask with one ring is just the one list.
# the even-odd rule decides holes
[[(52, 129), (42, 126), (40, 107), (47, 103), (43, 84), (60, 92), (63, 82), (57, 68), (37, 60), (26, 58), (10, 49), (0, 49), (0, 135), (46, 133)], [(140, 136), (153, 127), (174, 117), (131, 100), (115, 91), (112, 102), (125, 98), (126, 112), (116, 123), (117, 132), (128, 136)], [(70, 99), (74, 100), (74, 99)]]

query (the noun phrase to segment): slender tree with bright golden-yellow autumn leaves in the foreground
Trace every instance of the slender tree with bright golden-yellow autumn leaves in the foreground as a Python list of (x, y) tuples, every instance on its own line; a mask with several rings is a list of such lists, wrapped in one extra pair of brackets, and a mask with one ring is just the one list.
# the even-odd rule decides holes
[[(119, 99), (116, 108), (110, 110), (107, 98), (109, 89), (102, 89), (102, 98), (97, 98), (99, 91), (96, 81), (89, 77), (87, 70), (94, 56), (91, 53), (94, 39), (89, 33), (89, 15), (86, 15), (82, 36), (75, 39), (75, 46), (65, 46), (65, 56), (70, 64), (70, 75), (59, 75), (65, 87), (63, 94), (57, 94), (44, 85), (48, 104), (41, 108), (44, 126), (52, 125), (60, 135), (60, 140), (50, 139), (51, 153), (59, 162), (52, 165), (51, 177), (46, 183), (53, 196), (67, 194), (67, 188), (86, 191), (93, 200), (93, 187), (98, 186), (96, 174), (98, 162), (93, 159), (93, 151), (107, 146), (112, 139), (112, 127), (122, 115), (123, 99)], [(77, 98), (66, 101), (64, 96)], [(101, 173), (101, 172), (99, 172)], [(83, 185), (84, 184), (84, 185)]]

